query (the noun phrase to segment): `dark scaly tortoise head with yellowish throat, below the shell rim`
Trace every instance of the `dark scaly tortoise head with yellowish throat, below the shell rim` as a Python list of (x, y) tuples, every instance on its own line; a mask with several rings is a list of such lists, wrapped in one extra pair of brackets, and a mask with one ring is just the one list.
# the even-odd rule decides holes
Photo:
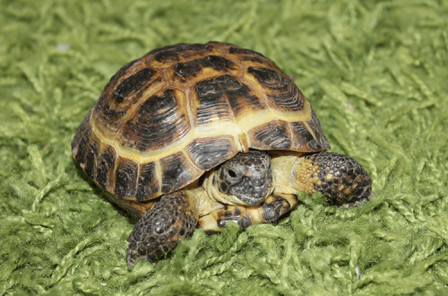
[(259, 205), (274, 187), (271, 158), (259, 151), (240, 152), (215, 170), (212, 186), (220, 202)]

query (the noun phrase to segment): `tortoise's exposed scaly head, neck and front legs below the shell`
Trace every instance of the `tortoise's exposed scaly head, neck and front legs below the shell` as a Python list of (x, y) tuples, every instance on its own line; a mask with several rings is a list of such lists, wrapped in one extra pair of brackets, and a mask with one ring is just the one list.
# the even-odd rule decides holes
[[(251, 155), (254, 161), (250, 161)], [(320, 191), (332, 204), (344, 206), (364, 202), (372, 196), (372, 182), (366, 170), (346, 155), (272, 152), (271, 165), (266, 159), (270, 158), (264, 152), (237, 154), (207, 174), (203, 187), (193, 184), (162, 196), (144, 213), (128, 238), (128, 266), (134, 266), (135, 257), (157, 261), (175, 248), (179, 239), (193, 232), (196, 225), (204, 231), (220, 231), (229, 221), (236, 222), (242, 229), (256, 222), (275, 222), (298, 205), (297, 191), (307, 194)], [(254, 163), (258, 163), (256, 168)], [(257, 187), (266, 192), (266, 196), (257, 205), (247, 205), (246, 196), (228, 196), (228, 187), (237, 184), (236, 176), (222, 170), (240, 170), (238, 175), (244, 188), (250, 191), (251, 187)], [(273, 192), (260, 187), (260, 176), (269, 183), (267, 187), (275, 184)]]

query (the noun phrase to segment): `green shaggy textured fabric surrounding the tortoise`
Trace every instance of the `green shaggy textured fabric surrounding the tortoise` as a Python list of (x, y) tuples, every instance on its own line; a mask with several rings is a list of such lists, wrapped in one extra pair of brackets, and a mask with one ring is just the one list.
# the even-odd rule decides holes
[[(0, 0), (1, 295), (448, 294), (448, 1)], [(70, 143), (127, 62), (219, 40), (271, 57), (375, 199), (194, 231), (128, 272), (134, 222)]]

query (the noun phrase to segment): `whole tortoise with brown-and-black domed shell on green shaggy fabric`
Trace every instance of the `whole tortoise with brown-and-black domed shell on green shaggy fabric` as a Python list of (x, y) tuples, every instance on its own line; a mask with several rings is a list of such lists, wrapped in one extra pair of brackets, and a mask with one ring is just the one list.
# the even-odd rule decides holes
[(73, 158), (138, 219), (135, 258), (156, 262), (196, 227), (275, 222), (322, 192), (372, 196), (366, 170), (330, 149), (297, 85), (271, 59), (220, 42), (152, 50), (112, 76), (76, 130)]

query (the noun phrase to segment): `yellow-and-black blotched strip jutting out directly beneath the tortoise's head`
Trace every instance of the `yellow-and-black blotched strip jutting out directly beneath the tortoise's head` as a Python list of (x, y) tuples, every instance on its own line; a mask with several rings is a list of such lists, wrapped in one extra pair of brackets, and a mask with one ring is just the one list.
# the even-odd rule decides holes
[(275, 222), (298, 204), (294, 194), (271, 194), (260, 205), (227, 205), (199, 218), (198, 227), (204, 231), (220, 231), (229, 221), (246, 229), (257, 222)]

